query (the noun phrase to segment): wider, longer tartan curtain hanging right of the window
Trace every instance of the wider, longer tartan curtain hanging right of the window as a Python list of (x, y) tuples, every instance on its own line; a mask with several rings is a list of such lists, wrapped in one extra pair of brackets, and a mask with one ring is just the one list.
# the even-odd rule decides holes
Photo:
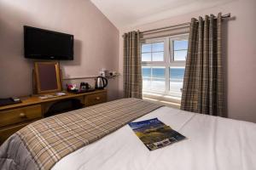
[(192, 19), (181, 109), (224, 116), (222, 18)]

